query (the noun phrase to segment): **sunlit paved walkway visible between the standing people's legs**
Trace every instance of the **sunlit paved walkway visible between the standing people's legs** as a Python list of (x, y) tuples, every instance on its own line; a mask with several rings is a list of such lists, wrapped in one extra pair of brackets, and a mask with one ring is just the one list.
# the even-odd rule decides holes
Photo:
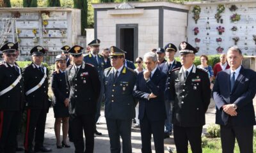
[[(256, 107), (255, 107), (256, 110)], [(94, 145), (94, 152), (95, 153), (110, 153), (109, 150), (109, 137), (108, 137), (108, 129), (106, 127), (106, 120), (104, 117), (104, 110), (101, 112), (100, 117), (100, 124), (97, 125), (98, 131), (102, 133), (102, 136), (95, 136), (95, 145)], [(60, 153), (73, 153), (74, 152), (74, 144), (68, 142), (71, 147), (69, 149), (56, 149), (56, 139), (54, 135), (54, 113), (52, 108), (50, 109), (49, 113), (47, 114), (46, 120), (46, 128), (45, 128), (45, 146), (50, 147), (52, 152), (60, 152)], [(206, 124), (203, 129), (203, 133), (205, 133), (205, 129), (209, 124), (214, 124), (215, 122), (215, 105), (212, 101), (209, 109), (206, 113)], [(62, 132), (61, 132), (62, 133)], [(61, 134), (62, 135), (62, 134)], [(23, 138), (19, 138), (19, 145), (23, 144)], [(175, 145), (173, 141), (173, 136), (164, 140), (164, 147), (167, 153), (167, 147), (170, 147), (172, 150), (175, 150)], [(152, 152), (154, 153), (154, 142), (152, 142)], [(132, 125), (132, 152), (137, 153), (141, 152), (141, 136), (140, 136), (140, 128), (134, 128)]]

